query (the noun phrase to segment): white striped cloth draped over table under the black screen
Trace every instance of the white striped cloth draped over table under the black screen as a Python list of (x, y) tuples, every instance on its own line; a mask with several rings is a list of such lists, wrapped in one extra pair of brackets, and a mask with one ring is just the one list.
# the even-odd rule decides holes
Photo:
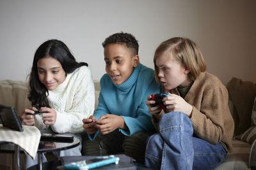
[(34, 126), (22, 125), (24, 131), (13, 131), (0, 124), (0, 141), (7, 141), (19, 145), (32, 159), (35, 159), (40, 142), (40, 131)]

